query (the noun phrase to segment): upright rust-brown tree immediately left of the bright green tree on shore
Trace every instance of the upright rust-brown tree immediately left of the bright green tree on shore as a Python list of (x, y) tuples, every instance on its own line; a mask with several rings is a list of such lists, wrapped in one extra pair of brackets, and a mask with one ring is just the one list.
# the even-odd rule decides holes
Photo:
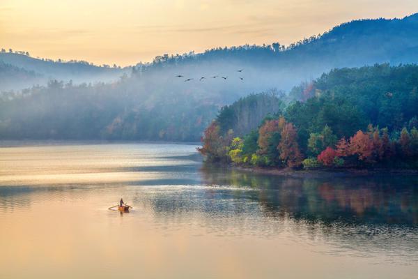
[(292, 123), (286, 123), (281, 130), (281, 140), (277, 149), (281, 160), (288, 167), (297, 167), (302, 163), (302, 154), (297, 144), (297, 130)]

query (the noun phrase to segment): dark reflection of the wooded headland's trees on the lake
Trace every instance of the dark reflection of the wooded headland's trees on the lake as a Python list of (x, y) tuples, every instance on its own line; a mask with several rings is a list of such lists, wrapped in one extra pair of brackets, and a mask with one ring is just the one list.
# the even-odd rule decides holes
[[(295, 179), (204, 167), (208, 185), (251, 188), (267, 216), (289, 216), (325, 223), (418, 223), (418, 179), (415, 176), (379, 176)], [(231, 195), (236, 195), (235, 191)]]

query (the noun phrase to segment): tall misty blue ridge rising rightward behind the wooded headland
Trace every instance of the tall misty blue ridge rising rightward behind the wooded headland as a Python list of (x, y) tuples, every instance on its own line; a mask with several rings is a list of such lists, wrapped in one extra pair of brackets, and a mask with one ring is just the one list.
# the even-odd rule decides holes
[[(417, 62), (418, 14), (415, 14), (403, 19), (347, 22), (286, 47), (280, 43), (243, 45), (201, 54), (157, 56), (152, 64), (139, 64), (137, 68), (139, 72), (158, 74), (162, 79), (165, 75), (180, 74), (194, 78), (194, 82), (200, 77), (229, 76), (222, 86), (215, 84), (215, 90), (231, 93), (229, 88), (233, 86), (247, 94), (271, 88), (288, 90), (332, 68)], [(243, 81), (238, 80), (236, 73), (240, 68), (244, 68), (239, 75), (244, 77)], [(206, 84), (199, 84), (199, 88)]]

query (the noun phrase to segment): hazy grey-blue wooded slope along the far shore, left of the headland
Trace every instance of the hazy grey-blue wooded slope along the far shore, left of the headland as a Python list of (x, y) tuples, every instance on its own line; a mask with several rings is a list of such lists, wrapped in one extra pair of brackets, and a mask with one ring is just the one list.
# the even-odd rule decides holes
[(199, 141), (219, 107), (187, 94), (52, 81), (0, 95), (0, 138)]

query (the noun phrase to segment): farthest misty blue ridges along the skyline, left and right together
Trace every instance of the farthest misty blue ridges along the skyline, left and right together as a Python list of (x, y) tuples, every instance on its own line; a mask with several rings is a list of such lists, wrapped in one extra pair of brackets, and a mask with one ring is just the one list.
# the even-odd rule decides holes
[[(8, 86), (22, 88), (47, 80), (72, 80), (80, 82), (109, 82), (131, 68), (105, 68), (84, 61), (59, 62), (35, 59), (15, 53), (0, 53), (4, 64), (21, 68), (23, 71), (0, 69), (0, 80), (8, 79)], [(312, 80), (332, 68), (357, 67), (374, 63), (417, 63), (418, 62), (418, 13), (403, 19), (355, 20), (334, 27), (321, 36), (305, 38), (284, 47), (272, 45), (244, 45), (217, 48), (201, 54), (164, 55), (155, 57), (152, 63), (139, 63), (139, 70), (147, 69), (171, 77), (181, 74), (194, 78), (210, 75), (228, 75), (233, 82), (215, 85), (215, 90), (238, 89), (240, 96), (265, 91), (271, 88), (290, 89), (291, 86)], [(237, 73), (238, 68), (244, 68)], [(29, 71), (35, 75), (24, 73)], [(242, 74), (242, 75), (238, 75)], [(9, 76), (10, 75), (10, 76)], [(24, 82), (20, 78), (25, 76)], [(231, 76), (233, 75), (233, 76)], [(27, 76), (27, 77), (26, 77)], [(239, 80), (238, 76), (245, 80)], [(241, 82), (244, 81), (244, 82)], [(22, 83), (22, 84), (21, 84)], [(211, 84), (213, 85), (213, 84)], [(201, 86), (201, 84), (199, 84)], [(6, 88), (4, 88), (6, 87)], [(188, 89), (190, 87), (187, 87)], [(211, 91), (213, 87), (211, 86)]]

